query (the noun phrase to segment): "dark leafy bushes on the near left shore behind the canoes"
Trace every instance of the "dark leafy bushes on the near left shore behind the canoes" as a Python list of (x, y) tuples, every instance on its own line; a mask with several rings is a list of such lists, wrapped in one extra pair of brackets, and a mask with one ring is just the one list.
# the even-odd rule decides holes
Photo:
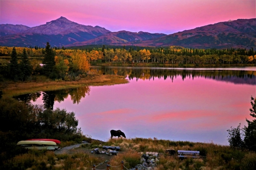
[[(44, 109), (13, 98), (0, 99), (0, 160), (8, 160), (26, 150), (16, 143), (31, 138), (52, 138), (60, 141), (89, 141), (77, 128), (74, 112), (65, 109)], [(1, 169), (0, 162), (0, 169)]]

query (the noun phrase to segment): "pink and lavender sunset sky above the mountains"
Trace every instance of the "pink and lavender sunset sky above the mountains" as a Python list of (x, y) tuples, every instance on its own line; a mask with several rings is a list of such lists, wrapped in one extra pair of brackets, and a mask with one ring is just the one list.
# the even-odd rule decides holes
[(256, 18), (255, 0), (0, 0), (0, 23), (29, 27), (63, 16), (110, 31), (175, 33)]

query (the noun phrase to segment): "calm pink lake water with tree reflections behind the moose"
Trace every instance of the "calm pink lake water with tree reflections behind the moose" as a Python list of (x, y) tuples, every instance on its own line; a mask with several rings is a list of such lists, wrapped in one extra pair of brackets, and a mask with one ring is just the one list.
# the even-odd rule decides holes
[(106, 141), (110, 130), (126, 137), (214, 142), (228, 145), (227, 129), (251, 120), (256, 67), (92, 67), (126, 76), (128, 84), (90, 86), (20, 96), (74, 111), (84, 134)]

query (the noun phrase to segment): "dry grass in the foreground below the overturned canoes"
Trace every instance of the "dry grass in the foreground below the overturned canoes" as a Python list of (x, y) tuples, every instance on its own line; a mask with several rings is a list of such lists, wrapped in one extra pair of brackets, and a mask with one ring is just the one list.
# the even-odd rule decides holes
[(49, 169), (49, 170), (79, 170), (91, 169), (93, 164), (102, 162), (102, 158), (94, 157), (84, 152), (55, 155), (52, 151), (30, 150), (26, 154), (15, 156), (6, 162), (6, 169)]

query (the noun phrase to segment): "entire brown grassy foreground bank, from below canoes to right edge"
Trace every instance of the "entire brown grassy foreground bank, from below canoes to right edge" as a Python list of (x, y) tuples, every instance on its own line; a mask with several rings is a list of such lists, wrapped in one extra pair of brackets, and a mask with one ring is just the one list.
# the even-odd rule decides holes
[[(53, 152), (30, 151), (18, 155), (5, 162), (6, 167), (13, 166), (16, 169), (90, 169), (93, 164), (104, 160), (95, 154), (86, 154), (84, 150), (101, 148), (103, 145), (120, 146), (121, 153), (117, 156), (109, 156), (110, 165), (119, 166), (123, 160), (128, 168), (140, 162), (138, 152), (159, 152), (157, 170), (252, 170), (256, 169), (256, 153), (248, 150), (234, 149), (229, 146), (214, 143), (193, 143), (188, 141), (169, 141), (153, 139), (109, 139), (107, 142), (93, 140), (90, 145), (73, 149), (69, 154), (55, 155)], [(180, 159), (177, 155), (165, 155), (166, 149), (198, 150), (201, 158)], [(22, 168), (21, 168), (22, 167)], [(111, 167), (111, 170), (120, 170)]]

